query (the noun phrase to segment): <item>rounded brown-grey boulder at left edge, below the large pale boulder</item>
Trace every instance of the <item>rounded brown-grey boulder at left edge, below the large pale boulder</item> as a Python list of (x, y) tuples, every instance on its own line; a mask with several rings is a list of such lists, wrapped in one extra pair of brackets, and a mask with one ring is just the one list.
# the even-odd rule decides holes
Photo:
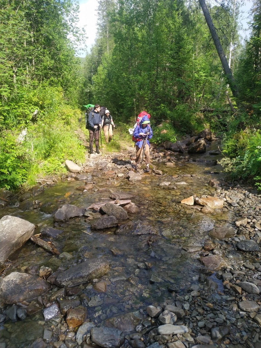
[(0, 283), (0, 301), (6, 304), (27, 301), (49, 289), (44, 279), (27, 273), (12, 272)]

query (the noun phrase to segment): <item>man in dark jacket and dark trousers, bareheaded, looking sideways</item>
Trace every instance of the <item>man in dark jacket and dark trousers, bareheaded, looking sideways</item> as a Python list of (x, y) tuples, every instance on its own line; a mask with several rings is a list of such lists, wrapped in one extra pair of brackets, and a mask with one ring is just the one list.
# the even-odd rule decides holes
[(100, 137), (100, 127), (102, 125), (102, 118), (100, 115), (101, 106), (95, 104), (94, 109), (89, 112), (88, 124), (89, 124), (89, 145), (90, 145), (90, 153), (93, 153), (93, 141), (95, 139), (96, 152), (99, 151), (99, 137)]

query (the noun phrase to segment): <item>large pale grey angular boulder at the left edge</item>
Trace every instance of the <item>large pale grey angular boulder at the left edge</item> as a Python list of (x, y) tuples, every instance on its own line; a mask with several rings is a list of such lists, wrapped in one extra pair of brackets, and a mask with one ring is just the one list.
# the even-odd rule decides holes
[(16, 216), (0, 220), (0, 264), (19, 249), (33, 234), (34, 224)]

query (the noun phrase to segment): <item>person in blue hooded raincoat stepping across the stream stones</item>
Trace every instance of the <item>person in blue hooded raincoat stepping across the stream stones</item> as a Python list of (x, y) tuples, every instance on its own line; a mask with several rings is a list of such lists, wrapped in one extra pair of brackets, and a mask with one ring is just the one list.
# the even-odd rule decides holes
[(147, 142), (145, 144), (145, 163), (146, 163), (146, 169), (144, 170), (145, 173), (150, 172), (149, 163), (150, 163), (150, 142), (149, 139), (152, 138), (152, 129), (150, 127), (150, 120), (148, 116), (144, 116), (140, 122), (139, 125), (134, 129), (133, 136), (136, 138), (135, 140), (135, 147), (136, 147), (136, 164), (138, 165), (141, 161), (142, 152), (143, 152), (143, 145), (145, 141), (145, 137), (148, 134)]

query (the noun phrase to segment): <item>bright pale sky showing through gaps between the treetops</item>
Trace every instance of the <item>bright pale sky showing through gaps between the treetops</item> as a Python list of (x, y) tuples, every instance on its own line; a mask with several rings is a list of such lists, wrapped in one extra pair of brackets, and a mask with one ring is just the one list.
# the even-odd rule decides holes
[[(240, 0), (237, 0), (240, 1)], [(96, 30), (97, 30), (97, 7), (98, 7), (98, 0), (79, 0), (80, 5), (80, 11), (79, 11), (79, 27), (85, 27), (86, 34), (87, 34), (87, 51), (90, 52), (90, 48), (94, 45), (95, 37), (96, 37)], [(242, 25), (243, 30), (240, 31), (240, 34), (242, 35), (243, 39), (249, 37), (250, 31), (246, 30), (248, 29), (247, 22), (250, 20), (247, 18), (248, 11), (252, 7), (252, 0), (245, 0), (244, 6), (242, 6)], [(85, 52), (81, 52), (79, 54), (80, 57), (85, 57)]]

